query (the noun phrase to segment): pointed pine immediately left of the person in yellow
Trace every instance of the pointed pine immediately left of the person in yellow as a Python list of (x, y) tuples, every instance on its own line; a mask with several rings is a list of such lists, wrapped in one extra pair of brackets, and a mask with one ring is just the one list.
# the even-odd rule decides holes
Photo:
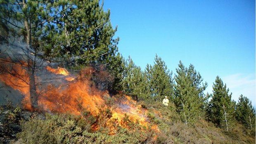
[(154, 65), (147, 65), (145, 73), (149, 81), (151, 98), (161, 100), (164, 96), (173, 97), (172, 72), (167, 69), (160, 57), (156, 55)]

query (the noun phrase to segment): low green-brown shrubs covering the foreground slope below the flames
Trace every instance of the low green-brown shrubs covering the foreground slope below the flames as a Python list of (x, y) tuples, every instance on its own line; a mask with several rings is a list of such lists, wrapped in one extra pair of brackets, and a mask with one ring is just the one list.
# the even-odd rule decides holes
[[(109, 100), (111, 104), (111, 100)], [(213, 123), (198, 119), (197, 123), (186, 126), (180, 121), (175, 106), (163, 107), (153, 103), (147, 107), (148, 127), (125, 114), (121, 127), (111, 119), (109, 106), (100, 106), (99, 114), (93, 116), (83, 109), (81, 116), (71, 114), (46, 114), (46, 118), (32, 118), (21, 121), (18, 138), (28, 144), (239, 144), (254, 143), (255, 130), (243, 125), (233, 126), (230, 131), (216, 128)], [(17, 107), (7, 114), (9, 121), (17, 121), (22, 111)], [(93, 126), (97, 125), (95, 129)], [(157, 125), (159, 130), (152, 130)], [(112, 132), (112, 133), (111, 133)]]

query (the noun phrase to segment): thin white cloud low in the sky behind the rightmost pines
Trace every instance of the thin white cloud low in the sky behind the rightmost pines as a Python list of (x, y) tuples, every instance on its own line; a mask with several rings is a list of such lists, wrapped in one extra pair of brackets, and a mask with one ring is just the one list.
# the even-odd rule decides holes
[[(249, 74), (232, 74), (225, 77), (220, 77), (223, 83), (227, 84), (230, 92), (232, 92), (232, 99), (237, 101), (239, 95), (244, 95), (249, 98), (252, 105), (255, 106), (255, 75)], [(212, 93), (212, 85), (209, 85), (206, 92)]]

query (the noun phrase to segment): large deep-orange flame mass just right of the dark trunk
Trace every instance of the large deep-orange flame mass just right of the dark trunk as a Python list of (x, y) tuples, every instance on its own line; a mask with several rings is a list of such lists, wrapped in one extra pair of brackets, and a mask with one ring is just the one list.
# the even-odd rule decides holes
[(80, 115), (82, 111), (78, 103), (84, 108), (98, 112), (97, 105), (104, 103), (101, 95), (100, 91), (90, 88), (85, 82), (75, 81), (68, 86), (59, 86), (43, 94), (39, 97), (39, 104), (46, 111)]

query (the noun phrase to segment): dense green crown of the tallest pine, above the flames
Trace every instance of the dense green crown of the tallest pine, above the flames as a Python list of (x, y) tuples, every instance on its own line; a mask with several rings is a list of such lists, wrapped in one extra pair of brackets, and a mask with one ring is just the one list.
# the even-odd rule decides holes
[(110, 11), (104, 12), (103, 3), (69, 0), (59, 9), (64, 12), (48, 25), (54, 37), (45, 37), (49, 56), (58, 56), (72, 66), (105, 64), (117, 56), (119, 38), (114, 38), (117, 28), (112, 28)]

